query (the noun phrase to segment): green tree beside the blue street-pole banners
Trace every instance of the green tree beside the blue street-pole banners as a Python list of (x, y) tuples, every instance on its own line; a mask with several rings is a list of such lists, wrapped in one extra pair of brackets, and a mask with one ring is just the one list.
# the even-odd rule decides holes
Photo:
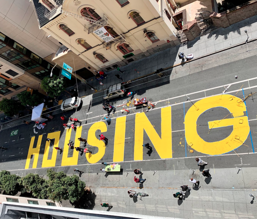
[(53, 78), (44, 77), (41, 81), (41, 88), (47, 92), (48, 96), (59, 96), (65, 90), (65, 78), (54, 76)]

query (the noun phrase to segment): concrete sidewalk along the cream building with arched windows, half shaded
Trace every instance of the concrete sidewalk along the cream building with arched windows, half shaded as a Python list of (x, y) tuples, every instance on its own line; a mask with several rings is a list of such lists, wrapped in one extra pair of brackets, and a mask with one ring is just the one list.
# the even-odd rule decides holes
[[(195, 40), (187, 42), (186, 44), (168, 48), (149, 57), (120, 67), (120, 69), (125, 71), (125, 73), (121, 74), (116, 69), (109, 71), (107, 73), (109, 76), (101, 81), (105, 86), (100, 85), (99, 81), (97, 81), (94, 77), (88, 79), (88, 83), (100, 91), (108, 88), (110, 85), (121, 82), (121, 80), (118, 79), (115, 74), (120, 74), (124, 81), (128, 81), (150, 74), (160, 68), (168, 68), (180, 64), (181, 59), (178, 58), (178, 52), (184, 52), (185, 55), (192, 53), (194, 55), (194, 59), (197, 59), (199, 57), (233, 47), (240, 43), (245, 43), (247, 40), (247, 34), (244, 32), (245, 29), (247, 30), (249, 36), (248, 40), (257, 38), (257, 15), (233, 24), (227, 28), (216, 29), (209, 34), (199, 36)], [(158, 48), (156, 51), (158, 51)], [(194, 59), (193, 62), (201, 62), (201, 60)], [(139, 73), (137, 73), (135, 69)], [(79, 84), (79, 92), (80, 96), (94, 93), (89, 86), (84, 85), (83, 83)]]

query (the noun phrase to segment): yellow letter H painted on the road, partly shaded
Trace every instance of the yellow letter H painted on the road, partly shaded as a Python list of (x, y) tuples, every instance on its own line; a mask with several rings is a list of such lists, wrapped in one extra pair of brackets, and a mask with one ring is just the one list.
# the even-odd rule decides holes
[(32, 168), (37, 168), (37, 161), (38, 161), (38, 156), (39, 156), (40, 145), (41, 145), (41, 142), (42, 142), (42, 137), (43, 137), (42, 134), (39, 135), (38, 141), (37, 141), (37, 146), (35, 148), (33, 148), (34, 141), (35, 141), (35, 136), (31, 138), (29, 149), (28, 149), (28, 156), (27, 156), (27, 160), (26, 160), (25, 169), (29, 168), (31, 155), (34, 155)]

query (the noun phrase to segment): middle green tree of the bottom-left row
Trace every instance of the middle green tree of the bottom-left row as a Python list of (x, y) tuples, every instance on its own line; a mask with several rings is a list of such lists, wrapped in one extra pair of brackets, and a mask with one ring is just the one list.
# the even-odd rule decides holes
[(26, 191), (32, 191), (33, 196), (41, 199), (47, 199), (48, 183), (38, 174), (29, 173), (20, 179), (19, 183), (24, 186)]

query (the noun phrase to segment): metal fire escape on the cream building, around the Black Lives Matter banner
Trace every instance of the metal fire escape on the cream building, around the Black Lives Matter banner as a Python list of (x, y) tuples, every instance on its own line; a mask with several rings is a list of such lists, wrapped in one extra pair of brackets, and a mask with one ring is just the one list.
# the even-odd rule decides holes
[(119, 35), (117, 37), (113, 36), (113, 40), (109, 41), (109, 42), (103, 42), (103, 48), (107, 49), (111, 49), (113, 44), (121, 44), (126, 42), (128, 45), (130, 44), (130, 42), (128, 41), (128, 39), (125, 37), (125, 35), (105, 16), (105, 14), (103, 15), (102, 19), (100, 20), (95, 20), (95, 18), (87, 16), (81, 16), (78, 15), (76, 13), (72, 13), (72, 12), (68, 12), (64, 9), (62, 9), (62, 6), (60, 5), (60, 3), (58, 2), (58, 0), (55, 0), (57, 7), (54, 8), (53, 10), (49, 11), (48, 9), (45, 10), (45, 14), (44, 17), (46, 17), (47, 19), (52, 19), (53, 17), (57, 16), (58, 14), (62, 13), (71, 17), (75, 17), (77, 19), (81, 19), (84, 21), (88, 21), (90, 24), (89, 25), (84, 25), (84, 31), (88, 32), (88, 34), (93, 33), (95, 30), (106, 26), (107, 24), (110, 25), (111, 28), (114, 29), (114, 31)]

